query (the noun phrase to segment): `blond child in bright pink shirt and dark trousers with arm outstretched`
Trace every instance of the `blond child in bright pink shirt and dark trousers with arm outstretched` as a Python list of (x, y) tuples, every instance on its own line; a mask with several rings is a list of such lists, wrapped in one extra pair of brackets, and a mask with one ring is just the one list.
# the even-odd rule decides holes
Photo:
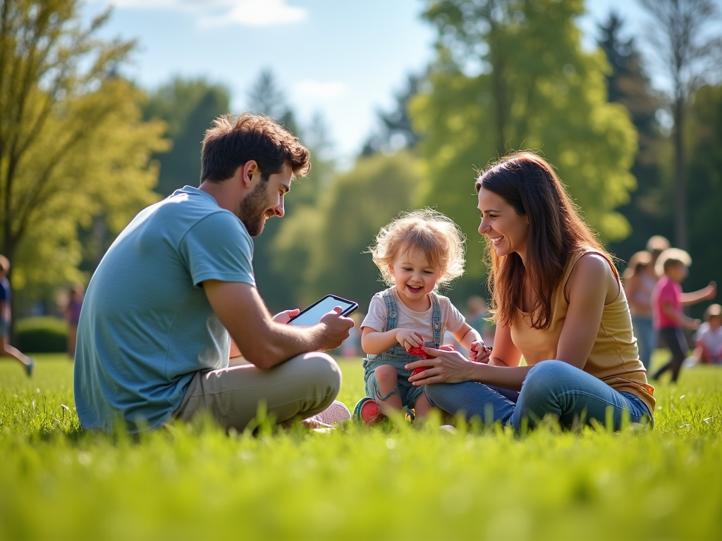
[(664, 273), (652, 292), (654, 327), (671, 351), (671, 360), (661, 366), (651, 377), (659, 379), (665, 372), (671, 372), (671, 382), (677, 382), (679, 370), (687, 357), (689, 346), (682, 329), (696, 329), (700, 320), (684, 315), (682, 307), (697, 304), (707, 299), (714, 299), (717, 294), (716, 283), (710, 282), (707, 287), (682, 293), (682, 281), (690, 273), (692, 265), (690, 254), (679, 248), (668, 248), (659, 255), (657, 272)]

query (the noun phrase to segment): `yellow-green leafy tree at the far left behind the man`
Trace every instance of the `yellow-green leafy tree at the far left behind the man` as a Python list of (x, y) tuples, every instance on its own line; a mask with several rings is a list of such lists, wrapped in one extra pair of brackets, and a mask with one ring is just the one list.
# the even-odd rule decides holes
[(78, 229), (103, 216), (119, 231), (152, 201), (165, 148), (143, 123), (142, 92), (116, 75), (133, 43), (83, 27), (77, 0), (0, 4), (0, 251), (13, 285), (81, 278)]

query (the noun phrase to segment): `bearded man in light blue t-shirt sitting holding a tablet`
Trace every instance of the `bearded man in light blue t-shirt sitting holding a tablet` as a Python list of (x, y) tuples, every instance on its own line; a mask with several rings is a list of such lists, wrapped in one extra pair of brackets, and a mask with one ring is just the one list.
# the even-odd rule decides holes
[[(265, 403), (277, 422), (326, 409), (341, 386), (333, 359), (353, 321), (313, 327), (271, 317), (256, 290), (251, 237), (283, 216), (308, 150), (270, 118), (217, 118), (201, 185), (176, 190), (121, 232), (90, 281), (78, 325), (75, 402), (87, 429), (131, 432), (209, 412), (242, 431)], [(230, 338), (250, 364), (228, 367)], [(308, 353), (315, 352), (315, 353)]]

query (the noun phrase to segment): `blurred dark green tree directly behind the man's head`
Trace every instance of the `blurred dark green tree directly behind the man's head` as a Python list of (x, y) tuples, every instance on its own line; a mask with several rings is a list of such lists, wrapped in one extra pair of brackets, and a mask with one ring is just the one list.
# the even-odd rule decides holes
[(199, 185), (201, 143), (212, 120), (227, 113), (230, 94), (204, 79), (173, 79), (151, 94), (143, 107), (144, 118), (160, 118), (173, 141), (169, 152), (155, 154), (160, 163), (157, 193), (170, 195), (185, 185)]

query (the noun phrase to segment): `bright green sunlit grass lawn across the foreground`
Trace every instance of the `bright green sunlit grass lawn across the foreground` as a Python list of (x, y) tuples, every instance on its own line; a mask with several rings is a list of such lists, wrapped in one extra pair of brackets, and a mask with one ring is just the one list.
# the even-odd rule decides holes
[[(722, 370), (661, 384), (656, 428), (345, 426), (138, 440), (79, 430), (72, 365), (0, 362), (0, 540), (697, 540), (722, 532)], [(659, 359), (657, 359), (659, 360)], [(342, 362), (339, 397), (362, 396)]]

